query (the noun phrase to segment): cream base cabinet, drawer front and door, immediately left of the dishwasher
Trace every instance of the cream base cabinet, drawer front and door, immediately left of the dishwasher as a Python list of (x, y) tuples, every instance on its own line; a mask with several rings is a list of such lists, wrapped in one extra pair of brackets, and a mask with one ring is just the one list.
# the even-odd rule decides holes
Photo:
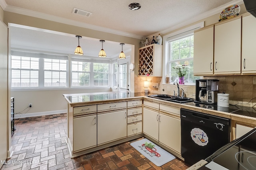
[(180, 108), (160, 104), (159, 142), (180, 154)]

